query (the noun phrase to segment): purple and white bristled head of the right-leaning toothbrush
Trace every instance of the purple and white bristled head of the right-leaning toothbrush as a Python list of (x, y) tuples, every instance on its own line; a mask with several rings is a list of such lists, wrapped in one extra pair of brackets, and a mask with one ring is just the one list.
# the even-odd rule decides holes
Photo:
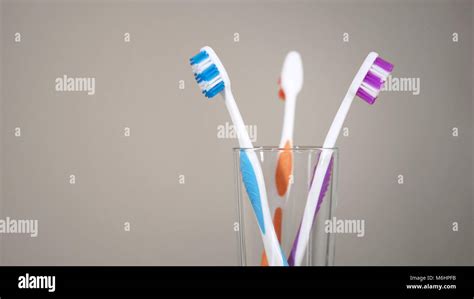
[(387, 81), (387, 77), (392, 72), (393, 64), (383, 60), (374, 52), (367, 56), (366, 62), (371, 62), (370, 68), (366, 71), (365, 77), (359, 85), (356, 95), (372, 105), (375, 103), (385, 81)]

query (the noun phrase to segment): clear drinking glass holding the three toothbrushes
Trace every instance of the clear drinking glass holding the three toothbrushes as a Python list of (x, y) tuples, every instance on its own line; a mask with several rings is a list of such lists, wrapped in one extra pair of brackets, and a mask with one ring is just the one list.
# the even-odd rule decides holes
[[(332, 156), (330, 163), (330, 176), (327, 191), (322, 198), (320, 208), (316, 214), (311, 229), (310, 240), (305, 251), (302, 266), (331, 266), (334, 263), (335, 243), (334, 235), (330, 233), (329, 221), (332, 220), (336, 206), (337, 191), (337, 162), (338, 151), (336, 148), (321, 148), (300, 146), (293, 148), (256, 147), (253, 149), (234, 148), (234, 176), (237, 194), (237, 213), (239, 219), (238, 229), (238, 260), (242, 266), (266, 265), (263, 257), (263, 242), (257, 220), (249, 201), (245, 186), (242, 182), (240, 157), (243, 152), (254, 151), (260, 161), (267, 198), (272, 217), (280, 217), (280, 224), (276, 224), (277, 235), (286, 257), (290, 255), (298, 228), (302, 221), (308, 191), (313, 173), (318, 163), (320, 154), (326, 151)], [(277, 184), (277, 165), (279, 159), (291, 160), (290, 169), (286, 175), (281, 175)], [(281, 166), (279, 166), (281, 167)], [(282, 184), (283, 177), (283, 184)], [(288, 177), (287, 187), (285, 185)], [(278, 186), (277, 186), (278, 185)], [(283, 194), (283, 195), (282, 195)], [(277, 221), (278, 222), (278, 221)], [(279, 233), (280, 232), (280, 233)]]

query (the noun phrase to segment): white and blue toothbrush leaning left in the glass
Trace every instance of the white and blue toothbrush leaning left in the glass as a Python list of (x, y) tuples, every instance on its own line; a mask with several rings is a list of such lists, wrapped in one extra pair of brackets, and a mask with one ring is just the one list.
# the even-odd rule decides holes
[[(254, 147), (245, 129), (239, 108), (232, 95), (229, 76), (217, 54), (211, 47), (206, 46), (190, 59), (190, 63), (196, 81), (204, 96), (211, 99), (217, 94), (221, 94), (224, 97), (224, 102), (234, 124), (240, 147), (243, 149), (253, 149)], [(269, 258), (269, 264), (271, 266), (287, 266), (288, 262), (273, 227), (263, 172), (255, 151), (240, 151), (240, 170), (242, 181), (257, 218), (263, 246)]]

